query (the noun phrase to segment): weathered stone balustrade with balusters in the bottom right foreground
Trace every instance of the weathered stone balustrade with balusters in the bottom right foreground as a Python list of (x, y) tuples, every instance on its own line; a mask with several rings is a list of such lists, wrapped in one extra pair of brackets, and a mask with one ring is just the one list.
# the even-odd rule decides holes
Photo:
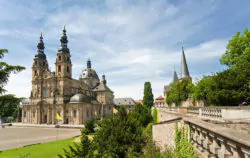
[(250, 158), (250, 137), (233, 129), (197, 119), (184, 118), (189, 140), (202, 157)]

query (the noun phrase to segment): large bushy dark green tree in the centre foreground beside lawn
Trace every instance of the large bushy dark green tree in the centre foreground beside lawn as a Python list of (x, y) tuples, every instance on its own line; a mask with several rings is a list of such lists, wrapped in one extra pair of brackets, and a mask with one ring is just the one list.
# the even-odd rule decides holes
[(102, 120), (92, 142), (87, 139), (85, 131), (81, 143), (70, 146), (64, 154), (73, 158), (138, 157), (148, 142), (143, 131), (151, 121), (150, 108), (146, 105), (137, 104), (130, 113), (122, 106), (116, 116)]

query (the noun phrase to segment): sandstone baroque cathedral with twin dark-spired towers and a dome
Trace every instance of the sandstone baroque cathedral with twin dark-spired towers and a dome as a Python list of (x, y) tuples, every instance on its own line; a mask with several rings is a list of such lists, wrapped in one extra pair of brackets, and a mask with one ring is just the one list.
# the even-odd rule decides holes
[(32, 66), (32, 90), (22, 102), (22, 123), (57, 124), (58, 114), (64, 124), (83, 124), (94, 117), (113, 114), (113, 92), (105, 75), (100, 80), (88, 59), (79, 79), (72, 78), (72, 62), (64, 26), (55, 72), (51, 72), (44, 53), (42, 34)]

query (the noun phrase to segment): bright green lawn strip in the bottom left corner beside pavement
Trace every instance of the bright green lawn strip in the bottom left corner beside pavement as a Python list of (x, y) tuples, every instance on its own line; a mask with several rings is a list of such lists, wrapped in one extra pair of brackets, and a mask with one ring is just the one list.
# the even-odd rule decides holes
[(0, 152), (0, 158), (19, 158), (20, 156), (23, 158), (24, 155), (28, 155), (27, 158), (56, 158), (57, 154), (63, 154), (63, 148), (72, 145), (74, 140), (75, 138), (71, 138), (23, 148), (4, 150)]

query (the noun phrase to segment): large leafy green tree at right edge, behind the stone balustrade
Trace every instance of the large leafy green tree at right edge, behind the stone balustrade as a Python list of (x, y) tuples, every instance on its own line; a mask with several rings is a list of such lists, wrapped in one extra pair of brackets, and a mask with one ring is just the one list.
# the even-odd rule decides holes
[(237, 32), (229, 40), (220, 58), (228, 69), (210, 77), (203, 77), (194, 88), (195, 99), (206, 99), (209, 104), (233, 106), (250, 102), (250, 32)]

